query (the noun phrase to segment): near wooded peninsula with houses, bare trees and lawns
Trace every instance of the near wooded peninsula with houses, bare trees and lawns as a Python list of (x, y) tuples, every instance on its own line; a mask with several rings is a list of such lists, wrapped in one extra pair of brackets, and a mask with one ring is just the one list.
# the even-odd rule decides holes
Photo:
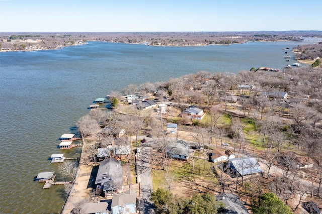
[(84, 149), (62, 213), (321, 209), (321, 69), (200, 71), (112, 92), (76, 124)]

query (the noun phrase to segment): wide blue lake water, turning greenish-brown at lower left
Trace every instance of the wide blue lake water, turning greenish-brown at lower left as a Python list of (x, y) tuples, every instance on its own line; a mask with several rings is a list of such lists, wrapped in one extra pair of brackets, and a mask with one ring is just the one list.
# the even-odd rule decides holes
[(51, 154), (79, 155), (78, 148), (57, 149), (58, 138), (89, 113), (94, 99), (128, 84), (167, 81), (200, 70), (282, 69), (296, 62), (286, 62), (282, 48), (301, 44), (154, 47), (89, 42), (61, 50), (0, 53), (0, 212), (61, 211), (64, 187), (42, 189), (43, 183), (33, 178), (57, 171), (57, 164), (48, 161)]

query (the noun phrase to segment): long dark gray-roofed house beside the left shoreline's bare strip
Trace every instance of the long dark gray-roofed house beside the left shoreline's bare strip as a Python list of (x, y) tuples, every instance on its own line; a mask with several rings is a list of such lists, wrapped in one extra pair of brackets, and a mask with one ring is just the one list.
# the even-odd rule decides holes
[(114, 158), (101, 161), (95, 180), (96, 193), (106, 196), (119, 192), (122, 189), (122, 179), (121, 161)]

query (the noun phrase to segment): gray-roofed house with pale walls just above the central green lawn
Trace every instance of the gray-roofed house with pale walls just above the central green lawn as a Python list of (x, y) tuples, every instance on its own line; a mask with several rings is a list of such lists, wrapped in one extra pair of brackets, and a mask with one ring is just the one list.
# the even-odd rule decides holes
[(183, 140), (175, 141), (168, 148), (168, 155), (173, 158), (187, 161), (191, 156), (193, 149)]

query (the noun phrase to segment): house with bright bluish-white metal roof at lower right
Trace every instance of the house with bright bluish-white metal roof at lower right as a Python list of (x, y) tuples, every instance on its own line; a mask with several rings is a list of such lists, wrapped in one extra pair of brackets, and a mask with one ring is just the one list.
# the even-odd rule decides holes
[(228, 159), (228, 165), (234, 174), (238, 176), (263, 172), (260, 164), (253, 157), (241, 157)]

